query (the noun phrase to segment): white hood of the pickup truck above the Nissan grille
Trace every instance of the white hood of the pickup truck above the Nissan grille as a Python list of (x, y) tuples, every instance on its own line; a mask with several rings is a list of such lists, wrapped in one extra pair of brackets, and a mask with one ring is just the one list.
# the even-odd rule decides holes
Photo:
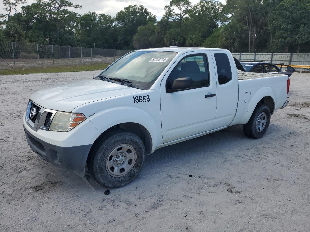
[(30, 99), (50, 110), (72, 112), (74, 108), (92, 101), (143, 91), (126, 85), (90, 79), (42, 88), (33, 93)]

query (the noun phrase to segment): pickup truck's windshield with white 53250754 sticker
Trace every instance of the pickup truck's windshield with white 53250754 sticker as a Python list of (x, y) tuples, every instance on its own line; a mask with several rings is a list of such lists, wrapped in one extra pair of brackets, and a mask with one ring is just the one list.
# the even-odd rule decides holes
[(104, 70), (100, 76), (128, 80), (139, 89), (149, 89), (176, 54), (166, 51), (131, 52)]

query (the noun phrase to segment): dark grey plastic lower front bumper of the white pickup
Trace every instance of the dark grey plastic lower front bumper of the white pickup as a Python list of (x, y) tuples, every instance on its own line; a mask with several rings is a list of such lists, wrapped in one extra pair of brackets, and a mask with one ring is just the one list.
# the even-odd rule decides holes
[(92, 144), (75, 147), (59, 147), (38, 139), (30, 134), (25, 127), (24, 131), (30, 148), (43, 160), (63, 169), (80, 171), (85, 168), (87, 156)]

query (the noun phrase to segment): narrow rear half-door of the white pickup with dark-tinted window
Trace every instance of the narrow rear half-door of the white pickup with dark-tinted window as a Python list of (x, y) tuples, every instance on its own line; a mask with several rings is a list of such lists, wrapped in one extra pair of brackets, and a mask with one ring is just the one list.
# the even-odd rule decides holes
[(217, 81), (217, 101), (214, 129), (228, 126), (236, 115), (238, 103), (238, 73), (229, 51), (211, 51)]

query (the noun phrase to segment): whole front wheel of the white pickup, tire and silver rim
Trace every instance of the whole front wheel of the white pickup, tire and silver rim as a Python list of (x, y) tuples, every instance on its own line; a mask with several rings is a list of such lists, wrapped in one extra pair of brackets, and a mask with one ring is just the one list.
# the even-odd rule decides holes
[(141, 171), (145, 148), (138, 135), (118, 130), (99, 140), (87, 167), (91, 176), (101, 185), (117, 188), (130, 183)]

